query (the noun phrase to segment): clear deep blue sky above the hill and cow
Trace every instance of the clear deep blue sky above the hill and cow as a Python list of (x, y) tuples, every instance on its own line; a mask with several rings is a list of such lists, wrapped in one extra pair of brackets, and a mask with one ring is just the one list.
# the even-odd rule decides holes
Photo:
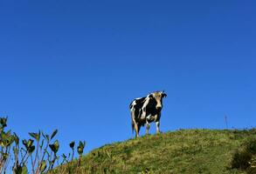
[[(162, 131), (256, 126), (255, 1), (0, 2), (0, 114), (61, 150), (132, 137), (128, 104), (166, 90)], [(155, 125), (151, 127), (155, 133)], [(142, 129), (144, 134), (145, 129)]]

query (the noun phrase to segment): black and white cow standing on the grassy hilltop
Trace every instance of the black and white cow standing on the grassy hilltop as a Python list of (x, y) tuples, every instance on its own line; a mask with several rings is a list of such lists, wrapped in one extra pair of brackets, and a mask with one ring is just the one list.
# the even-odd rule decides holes
[(130, 104), (132, 117), (132, 130), (139, 137), (139, 131), (146, 124), (146, 134), (149, 134), (151, 122), (156, 122), (156, 133), (159, 133), (161, 110), (163, 108), (163, 97), (167, 97), (164, 91), (150, 93), (147, 97), (135, 98)]

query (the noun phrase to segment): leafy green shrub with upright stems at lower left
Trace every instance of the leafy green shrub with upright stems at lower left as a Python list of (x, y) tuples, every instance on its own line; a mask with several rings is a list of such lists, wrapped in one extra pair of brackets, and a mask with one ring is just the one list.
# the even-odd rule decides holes
[[(20, 139), (16, 133), (5, 131), (7, 127), (7, 117), (0, 118), (0, 173), (7, 171), (7, 166), (12, 166), (12, 171), (15, 174), (28, 173), (28, 163), (31, 163), (30, 173), (49, 173), (53, 168), (59, 165), (65, 165), (73, 161), (74, 145), (72, 142), (70, 148), (72, 149), (72, 157), (70, 153), (68, 156), (62, 154), (58, 155), (59, 140), (54, 137), (57, 135), (58, 130), (52, 132), (51, 136), (45, 134), (43, 131), (30, 132), (31, 138), (23, 139), (20, 144)], [(81, 142), (78, 148), (78, 154), (81, 158), (86, 143)], [(12, 151), (10, 151), (12, 148)], [(13, 161), (10, 160), (13, 157)], [(12, 162), (12, 163), (11, 163)], [(57, 164), (57, 165), (56, 165)]]

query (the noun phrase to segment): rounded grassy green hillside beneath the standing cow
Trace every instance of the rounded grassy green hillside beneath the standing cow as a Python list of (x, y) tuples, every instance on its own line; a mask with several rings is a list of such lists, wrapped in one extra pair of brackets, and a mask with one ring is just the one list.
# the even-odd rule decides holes
[[(243, 173), (232, 154), (250, 131), (181, 130), (107, 144), (72, 164), (72, 173)], [(59, 172), (60, 173), (60, 172)]]

